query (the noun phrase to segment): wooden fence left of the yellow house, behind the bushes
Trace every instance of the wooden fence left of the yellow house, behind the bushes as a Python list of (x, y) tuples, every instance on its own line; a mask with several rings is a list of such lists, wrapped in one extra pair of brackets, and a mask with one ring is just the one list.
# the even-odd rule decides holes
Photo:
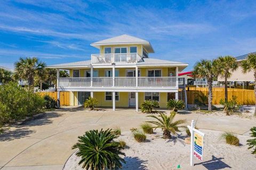
[[(39, 92), (41, 96), (49, 95), (52, 98), (57, 100), (57, 91), (52, 91), (52, 92)], [(60, 91), (60, 105), (70, 105), (70, 94), (69, 91)]]

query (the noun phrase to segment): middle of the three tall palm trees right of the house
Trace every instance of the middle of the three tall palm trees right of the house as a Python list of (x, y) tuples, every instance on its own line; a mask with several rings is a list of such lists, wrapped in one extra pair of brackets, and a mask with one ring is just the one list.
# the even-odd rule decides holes
[(238, 64), (236, 58), (233, 56), (220, 56), (218, 59), (218, 69), (220, 76), (225, 79), (225, 102), (228, 101), (228, 78), (231, 77), (232, 72), (237, 70)]

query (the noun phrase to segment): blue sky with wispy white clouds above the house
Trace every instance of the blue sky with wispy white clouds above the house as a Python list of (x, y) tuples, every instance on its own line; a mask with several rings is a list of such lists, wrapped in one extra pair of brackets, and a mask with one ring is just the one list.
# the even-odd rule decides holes
[(1, 1), (0, 65), (90, 60), (94, 41), (146, 39), (149, 57), (189, 63), (256, 51), (255, 1)]

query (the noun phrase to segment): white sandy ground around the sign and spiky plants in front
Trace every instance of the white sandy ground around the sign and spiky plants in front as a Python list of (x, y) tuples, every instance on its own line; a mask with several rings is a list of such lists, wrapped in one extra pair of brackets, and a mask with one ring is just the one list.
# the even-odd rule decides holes
[[(190, 145), (184, 142), (186, 132), (181, 132), (179, 138), (164, 140), (162, 131), (156, 130), (155, 134), (147, 134), (147, 142), (138, 143), (131, 132), (122, 133), (118, 139), (126, 142), (129, 148), (124, 150), (126, 164), (123, 169), (256, 169), (256, 157), (247, 149), (246, 140), (250, 137), (237, 135), (241, 145), (231, 146), (220, 139), (223, 132), (201, 130), (205, 133), (203, 162), (195, 160), (195, 166), (189, 166)], [(78, 166), (79, 158), (70, 156), (63, 169), (81, 170)]]

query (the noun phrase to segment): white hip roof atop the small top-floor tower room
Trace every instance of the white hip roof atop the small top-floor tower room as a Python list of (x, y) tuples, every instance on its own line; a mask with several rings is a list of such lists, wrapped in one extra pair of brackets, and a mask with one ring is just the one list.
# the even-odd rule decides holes
[(117, 37), (112, 37), (108, 39), (103, 39), (100, 41), (97, 41), (95, 43), (92, 43), (91, 46), (100, 48), (102, 45), (124, 45), (124, 44), (142, 44), (145, 46), (148, 53), (154, 53), (154, 49), (149, 43), (149, 41), (137, 37), (133, 37), (130, 35), (121, 35)]

